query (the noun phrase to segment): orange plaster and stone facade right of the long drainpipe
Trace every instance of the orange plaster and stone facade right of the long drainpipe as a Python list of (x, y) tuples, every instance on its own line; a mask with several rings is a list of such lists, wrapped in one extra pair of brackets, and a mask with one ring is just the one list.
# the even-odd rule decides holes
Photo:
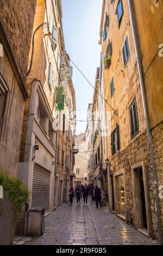
[[(162, 34), (162, 1), (150, 2), (145, 0), (143, 5), (139, 1), (132, 1), (134, 25), (137, 44), (141, 59), (143, 83), (145, 86), (146, 102), (151, 139), (153, 144), (153, 156), (156, 173), (158, 193), (163, 185), (162, 173), (162, 120), (163, 120), (163, 34)], [(146, 25), (146, 26), (145, 26)], [(148, 29), (150, 27), (150, 29)], [(158, 196), (158, 212), (161, 218), (163, 234), (163, 199)], [(152, 222), (156, 229), (155, 201), (151, 192)], [(157, 234), (158, 239), (160, 237)], [(163, 240), (162, 240), (163, 243)]]

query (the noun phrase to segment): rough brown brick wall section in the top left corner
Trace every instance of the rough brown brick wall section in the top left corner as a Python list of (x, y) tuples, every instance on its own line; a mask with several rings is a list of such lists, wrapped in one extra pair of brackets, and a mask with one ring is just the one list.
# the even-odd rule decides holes
[(0, 20), (24, 82), (26, 81), (35, 7), (36, 0), (0, 1)]

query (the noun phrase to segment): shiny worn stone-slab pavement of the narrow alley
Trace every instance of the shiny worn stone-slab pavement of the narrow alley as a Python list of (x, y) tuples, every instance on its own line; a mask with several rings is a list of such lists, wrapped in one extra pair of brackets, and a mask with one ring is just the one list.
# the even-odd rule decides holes
[(41, 236), (15, 237), (16, 245), (159, 245), (126, 224), (105, 206), (62, 204), (45, 219)]

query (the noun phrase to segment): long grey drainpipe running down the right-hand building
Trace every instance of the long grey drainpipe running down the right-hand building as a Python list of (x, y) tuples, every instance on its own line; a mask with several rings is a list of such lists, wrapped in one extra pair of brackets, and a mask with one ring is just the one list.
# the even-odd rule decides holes
[(140, 57), (139, 57), (138, 44), (137, 44), (137, 40), (136, 40), (136, 32), (135, 32), (135, 26), (134, 26), (134, 17), (133, 17), (133, 9), (132, 9), (131, 0), (128, 0), (128, 5), (129, 5), (131, 28), (132, 28), (132, 32), (133, 32), (134, 46), (135, 46), (135, 52), (136, 52), (137, 68), (138, 68), (138, 71), (139, 71), (139, 79), (140, 79), (140, 87), (141, 87), (141, 94), (142, 94), (143, 110), (144, 110), (145, 120), (146, 120), (146, 130), (147, 130), (147, 138), (148, 138), (148, 145), (149, 145), (149, 154), (150, 154), (151, 167), (152, 167), (152, 173), (153, 173), (153, 187), (154, 187), (154, 199), (155, 199), (156, 224), (157, 224), (157, 229), (158, 229), (159, 241), (160, 241), (161, 245), (163, 245), (162, 232), (161, 232), (161, 220), (160, 220), (160, 207), (159, 207), (159, 198), (158, 198), (158, 185), (157, 185), (157, 181), (156, 181), (156, 173), (155, 173), (155, 165), (154, 165), (154, 157), (153, 157), (153, 148), (152, 148), (152, 136), (151, 136), (151, 131), (150, 131), (150, 128), (149, 128), (149, 119), (148, 119), (147, 102), (146, 102), (146, 95), (145, 95), (145, 86), (144, 86), (144, 83), (143, 83), (141, 62), (140, 62)]

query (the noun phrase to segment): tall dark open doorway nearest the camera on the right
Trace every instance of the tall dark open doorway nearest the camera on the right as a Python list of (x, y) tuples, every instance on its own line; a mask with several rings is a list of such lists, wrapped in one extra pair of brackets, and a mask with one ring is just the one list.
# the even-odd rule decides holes
[(142, 167), (134, 169), (134, 200), (136, 228), (147, 229), (145, 184)]

